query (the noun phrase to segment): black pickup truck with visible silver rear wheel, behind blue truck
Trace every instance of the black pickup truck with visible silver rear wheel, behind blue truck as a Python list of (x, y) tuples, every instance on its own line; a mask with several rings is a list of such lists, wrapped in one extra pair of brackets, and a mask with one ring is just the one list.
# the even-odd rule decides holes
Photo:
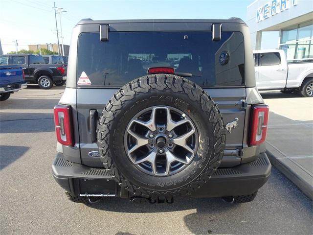
[[(45, 64), (41, 55), (9, 54), (0, 56), (0, 65), (19, 65), (23, 68), (25, 81), (37, 83), (42, 89), (50, 89), (53, 84), (64, 84), (67, 67), (64, 64)], [(62, 84), (62, 85), (63, 85)]]

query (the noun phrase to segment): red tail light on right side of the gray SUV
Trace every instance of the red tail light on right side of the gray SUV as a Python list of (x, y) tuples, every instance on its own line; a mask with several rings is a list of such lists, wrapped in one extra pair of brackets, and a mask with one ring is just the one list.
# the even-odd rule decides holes
[(252, 119), (250, 129), (250, 145), (258, 145), (265, 141), (268, 130), (268, 106), (252, 106)]

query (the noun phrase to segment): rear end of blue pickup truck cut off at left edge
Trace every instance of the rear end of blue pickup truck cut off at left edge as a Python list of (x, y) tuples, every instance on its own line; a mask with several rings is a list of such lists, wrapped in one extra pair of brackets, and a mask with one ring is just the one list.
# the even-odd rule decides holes
[(0, 101), (7, 100), (14, 92), (27, 87), (24, 72), (20, 66), (0, 66)]

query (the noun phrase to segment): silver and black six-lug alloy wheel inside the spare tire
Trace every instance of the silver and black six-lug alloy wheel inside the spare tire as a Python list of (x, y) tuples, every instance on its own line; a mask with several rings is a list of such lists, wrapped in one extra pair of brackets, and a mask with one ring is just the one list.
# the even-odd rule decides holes
[(198, 131), (182, 111), (169, 106), (142, 110), (129, 122), (124, 147), (131, 162), (155, 176), (177, 173), (190, 164), (198, 148)]

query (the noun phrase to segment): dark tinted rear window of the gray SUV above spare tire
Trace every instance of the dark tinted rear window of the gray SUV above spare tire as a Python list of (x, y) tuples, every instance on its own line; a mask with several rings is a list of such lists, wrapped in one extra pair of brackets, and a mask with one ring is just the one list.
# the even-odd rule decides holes
[(101, 42), (99, 33), (82, 33), (77, 80), (85, 72), (91, 86), (121, 87), (148, 68), (172, 67), (192, 73), (187, 78), (202, 87), (244, 84), (243, 35), (222, 32), (222, 40), (211, 38), (203, 31), (110, 32), (110, 40)]

